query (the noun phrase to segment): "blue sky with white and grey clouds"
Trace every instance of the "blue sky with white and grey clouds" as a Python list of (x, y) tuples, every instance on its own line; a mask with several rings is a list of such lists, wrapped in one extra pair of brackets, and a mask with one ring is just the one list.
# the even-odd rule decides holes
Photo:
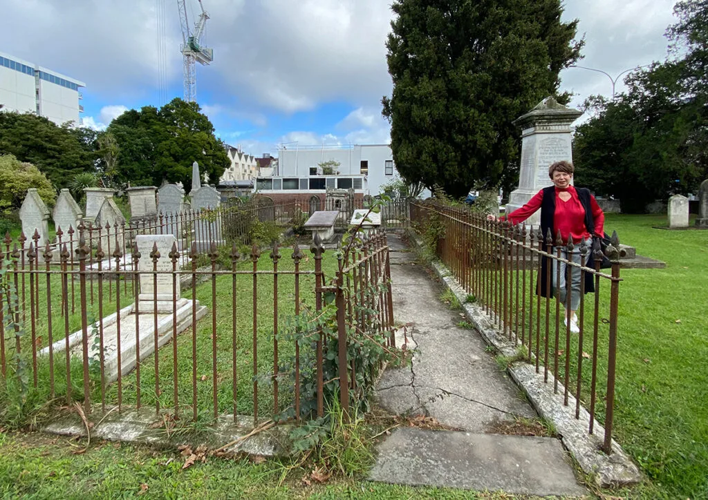
[[(198, 1), (186, 1), (193, 23)], [(389, 141), (380, 106), (392, 88), (388, 1), (203, 2), (211, 16), (204, 40), (215, 60), (197, 67), (197, 100), (224, 141), (255, 156), (284, 143)], [(663, 59), (673, 4), (567, 0), (564, 18), (579, 18), (586, 37), (579, 64), (615, 76)], [(175, 0), (3, 0), (0, 17), (0, 51), (86, 82), (84, 124), (101, 129), (125, 109), (183, 95)], [(611, 93), (603, 74), (566, 69), (561, 77), (576, 106)]]

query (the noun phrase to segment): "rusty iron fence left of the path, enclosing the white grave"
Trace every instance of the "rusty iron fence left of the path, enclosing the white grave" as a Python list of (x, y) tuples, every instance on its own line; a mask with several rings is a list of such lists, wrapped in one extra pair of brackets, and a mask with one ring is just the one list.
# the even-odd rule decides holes
[[(330, 264), (319, 241), (309, 253), (276, 243), (268, 256), (255, 243), (247, 252), (235, 241), (224, 245), (255, 222), (287, 226), (294, 210), (234, 205), (128, 226), (82, 223), (59, 229), (57, 243), (45, 248), (37, 234), (16, 242), (6, 236), (1, 388), (82, 400), (84, 412), (100, 402), (104, 412), (153, 406), (176, 419), (252, 414), (256, 424), (285, 409), (295, 419), (304, 414), (307, 369), (316, 383), (314, 412), (323, 414), (332, 385), (350, 388), (338, 391), (348, 412), (360, 340), (382, 335), (394, 345), (386, 236), (354, 238)], [(171, 248), (139, 251), (137, 236), (169, 234), (176, 236)], [(334, 310), (326, 309), (330, 294)], [(313, 342), (283, 342), (283, 318), (303, 309), (331, 314), (336, 330), (315, 332)], [(333, 348), (343, 368), (325, 380)], [(302, 366), (305, 358), (313, 365)], [(295, 369), (286, 372), (283, 359)]]

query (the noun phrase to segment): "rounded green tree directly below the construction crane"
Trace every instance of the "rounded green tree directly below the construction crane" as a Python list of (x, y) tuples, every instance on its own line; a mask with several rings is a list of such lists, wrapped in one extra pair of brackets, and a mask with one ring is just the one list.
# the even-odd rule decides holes
[(199, 105), (179, 98), (159, 110), (129, 110), (111, 122), (106, 134), (113, 139), (99, 139), (103, 165), (107, 168), (107, 158), (115, 155), (110, 171), (120, 184), (159, 186), (167, 180), (183, 182), (188, 189), (194, 161), (214, 183), (229, 165), (224, 144)]

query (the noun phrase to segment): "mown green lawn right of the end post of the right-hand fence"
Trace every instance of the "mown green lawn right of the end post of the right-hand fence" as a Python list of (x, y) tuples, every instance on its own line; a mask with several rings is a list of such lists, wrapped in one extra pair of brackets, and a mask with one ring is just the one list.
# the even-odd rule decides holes
[(615, 436), (651, 479), (647, 497), (708, 498), (708, 231), (652, 226), (666, 216), (605, 223), (666, 262), (621, 272)]

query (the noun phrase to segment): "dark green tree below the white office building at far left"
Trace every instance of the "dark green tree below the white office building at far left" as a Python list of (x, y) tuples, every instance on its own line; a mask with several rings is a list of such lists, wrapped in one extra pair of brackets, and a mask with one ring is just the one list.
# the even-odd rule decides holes
[(32, 113), (0, 113), (0, 154), (35, 165), (57, 188), (96, 168), (91, 130), (57, 127)]

